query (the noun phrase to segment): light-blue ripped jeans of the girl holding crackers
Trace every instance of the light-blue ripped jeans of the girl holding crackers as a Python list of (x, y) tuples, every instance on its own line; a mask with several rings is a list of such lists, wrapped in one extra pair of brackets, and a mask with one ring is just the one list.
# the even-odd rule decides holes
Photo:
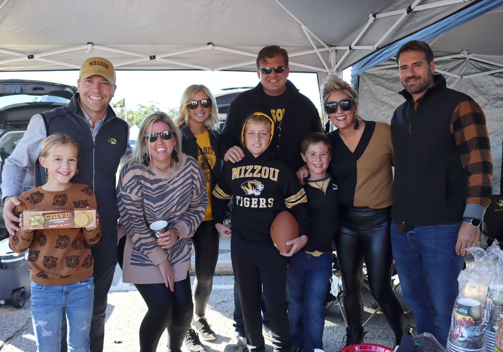
[(32, 321), (37, 352), (60, 350), (63, 307), (66, 310), (69, 350), (89, 352), (93, 300), (93, 276), (64, 286), (44, 286), (32, 281)]

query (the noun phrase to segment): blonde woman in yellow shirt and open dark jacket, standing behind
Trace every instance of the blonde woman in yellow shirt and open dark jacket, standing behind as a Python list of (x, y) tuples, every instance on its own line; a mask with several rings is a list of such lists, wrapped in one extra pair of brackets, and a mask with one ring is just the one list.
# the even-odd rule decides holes
[(193, 84), (187, 87), (182, 94), (178, 111), (175, 123), (182, 130), (184, 152), (196, 159), (201, 166), (208, 194), (206, 214), (192, 237), (196, 272), (194, 317), (184, 341), (189, 351), (198, 352), (204, 350), (200, 339), (211, 341), (216, 338), (205, 312), (218, 260), (219, 235), (211, 214), (211, 191), (222, 170), (222, 158), (217, 151), (220, 133), (216, 130), (218, 115), (215, 98), (206, 86)]

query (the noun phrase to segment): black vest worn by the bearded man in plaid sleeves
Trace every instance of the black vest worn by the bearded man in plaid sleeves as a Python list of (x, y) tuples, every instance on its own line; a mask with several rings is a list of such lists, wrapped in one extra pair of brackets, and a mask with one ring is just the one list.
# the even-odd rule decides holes
[(465, 181), (454, 135), (450, 131), (456, 106), (468, 95), (447, 88), (434, 75), (414, 112), (412, 96), (391, 119), (395, 152), (394, 202), (391, 218), (407, 225), (439, 225), (463, 220)]

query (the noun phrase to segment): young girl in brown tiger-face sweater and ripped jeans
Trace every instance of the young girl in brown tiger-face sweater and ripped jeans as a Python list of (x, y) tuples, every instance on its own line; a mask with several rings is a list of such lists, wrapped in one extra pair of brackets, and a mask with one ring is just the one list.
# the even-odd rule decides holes
[[(96, 213), (83, 210), (73, 217), (75, 227), (43, 226), (46, 217), (54, 218), (46, 210), (53, 209), (52, 214), (56, 214), (58, 209), (69, 209), (73, 214), (73, 208), (96, 209), (93, 188), (70, 182), (78, 172), (78, 157), (78, 144), (72, 137), (62, 133), (49, 135), (42, 144), (39, 158), (47, 174), (46, 183), (22, 193), (21, 205), (14, 209), (14, 214), (20, 217), (20, 229), (10, 237), (9, 245), (17, 253), (29, 250), (32, 321), (39, 352), (60, 350), (63, 308), (68, 322), (69, 350), (89, 351), (90, 348), (94, 300), (90, 246), (101, 237), (98, 216), (85, 219)], [(30, 221), (23, 226), (23, 210), (29, 209), (41, 209), (41, 212), (31, 214)], [(61, 210), (58, 214), (62, 213)]]

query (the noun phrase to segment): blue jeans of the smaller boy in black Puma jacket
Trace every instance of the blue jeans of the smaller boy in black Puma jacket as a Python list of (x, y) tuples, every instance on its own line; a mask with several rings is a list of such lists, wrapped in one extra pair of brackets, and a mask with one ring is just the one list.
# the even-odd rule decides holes
[(290, 258), (286, 299), (292, 348), (304, 352), (323, 349), (326, 294), (331, 273), (331, 252), (315, 257), (300, 250)]

